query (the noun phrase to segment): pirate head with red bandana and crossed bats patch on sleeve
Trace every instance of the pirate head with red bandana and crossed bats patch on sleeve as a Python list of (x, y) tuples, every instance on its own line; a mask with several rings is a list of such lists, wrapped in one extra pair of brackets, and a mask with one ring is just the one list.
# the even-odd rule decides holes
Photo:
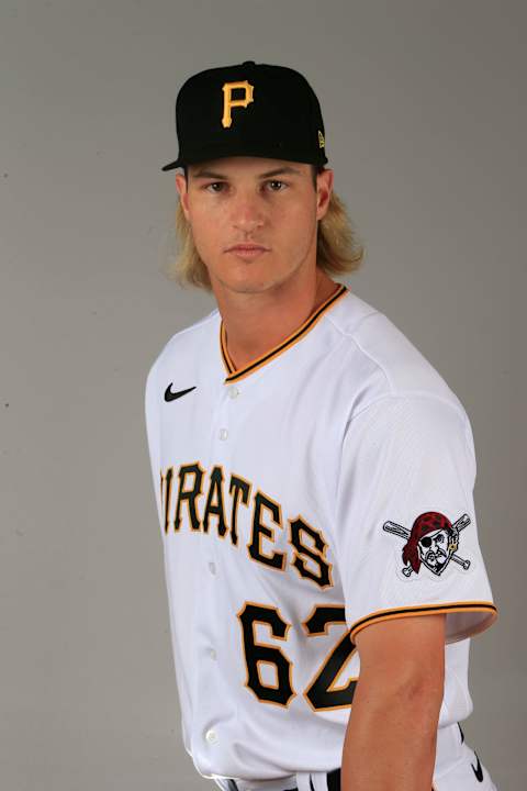
[(410, 577), (412, 571), (419, 573), (422, 564), (439, 577), (450, 560), (459, 564), (464, 570), (470, 568), (470, 560), (456, 555), (459, 534), (469, 524), (469, 514), (463, 514), (452, 524), (438, 511), (425, 511), (414, 521), (411, 531), (390, 521), (384, 522), (382, 527), (388, 533), (406, 538), (402, 550), (404, 568), (401, 569), (405, 577)]

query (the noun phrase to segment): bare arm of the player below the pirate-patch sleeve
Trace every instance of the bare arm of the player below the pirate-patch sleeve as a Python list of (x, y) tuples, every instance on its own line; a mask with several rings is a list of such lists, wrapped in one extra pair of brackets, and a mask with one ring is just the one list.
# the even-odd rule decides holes
[(445, 619), (366, 626), (346, 729), (341, 791), (430, 791), (445, 684)]

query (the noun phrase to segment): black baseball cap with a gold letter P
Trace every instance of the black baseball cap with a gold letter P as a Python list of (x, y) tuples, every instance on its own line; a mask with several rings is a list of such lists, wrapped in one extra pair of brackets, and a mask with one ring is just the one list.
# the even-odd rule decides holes
[(295, 69), (244, 60), (199, 71), (176, 99), (179, 156), (161, 170), (229, 156), (325, 165), (325, 131), (312, 87)]

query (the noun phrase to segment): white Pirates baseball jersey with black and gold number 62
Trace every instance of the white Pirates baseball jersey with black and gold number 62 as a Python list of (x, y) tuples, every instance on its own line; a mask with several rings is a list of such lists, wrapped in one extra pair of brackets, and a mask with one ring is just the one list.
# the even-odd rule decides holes
[(439, 777), (473, 709), (470, 637), (497, 617), (471, 425), (446, 381), (336, 283), (238, 370), (218, 309), (177, 332), (149, 369), (145, 408), (182, 737), (198, 772), (266, 791), (309, 789), (311, 776), (318, 791), (341, 764), (357, 633), (446, 613)]

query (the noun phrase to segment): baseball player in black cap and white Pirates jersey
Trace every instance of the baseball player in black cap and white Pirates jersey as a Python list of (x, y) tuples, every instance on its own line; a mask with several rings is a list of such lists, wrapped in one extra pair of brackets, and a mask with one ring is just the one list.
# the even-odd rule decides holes
[(461, 728), (497, 617), (471, 424), (330, 277), (318, 100), (248, 60), (191, 76), (176, 129), (181, 271), (217, 303), (145, 392), (184, 748), (223, 791), (495, 791)]

